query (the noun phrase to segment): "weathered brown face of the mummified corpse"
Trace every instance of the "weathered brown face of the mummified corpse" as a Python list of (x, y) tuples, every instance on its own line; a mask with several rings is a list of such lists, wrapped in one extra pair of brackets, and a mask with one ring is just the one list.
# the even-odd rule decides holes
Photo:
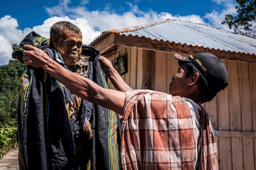
[(75, 66), (82, 52), (82, 34), (65, 29), (55, 47), (67, 66)]

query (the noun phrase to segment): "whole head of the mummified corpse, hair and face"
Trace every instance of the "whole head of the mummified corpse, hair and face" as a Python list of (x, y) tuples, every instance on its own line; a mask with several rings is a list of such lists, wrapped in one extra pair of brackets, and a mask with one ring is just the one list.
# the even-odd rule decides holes
[(75, 66), (82, 52), (82, 33), (68, 22), (54, 23), (50, 29), (50, 47), (60, 53), (66, 66)]

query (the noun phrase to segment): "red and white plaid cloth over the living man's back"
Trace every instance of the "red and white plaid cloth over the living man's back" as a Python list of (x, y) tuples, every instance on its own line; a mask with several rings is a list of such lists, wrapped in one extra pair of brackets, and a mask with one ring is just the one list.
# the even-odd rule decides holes
[[(198, 165), (215, 170), (218, 158), (214, 131), (202, 110)], [(197, 161), (195, 139), (192, 111), (180, 96), (151, 90), (134, 90), (126, 95), (120, 148), (123, 169), (193, 170)]]

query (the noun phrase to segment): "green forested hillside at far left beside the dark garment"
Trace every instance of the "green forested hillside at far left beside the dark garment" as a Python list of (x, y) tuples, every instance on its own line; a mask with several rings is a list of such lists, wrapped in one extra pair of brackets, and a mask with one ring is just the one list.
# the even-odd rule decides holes
[(0, 66), (0, 127), (16, 126), (20, 77), (26, 65), (17, 60)]

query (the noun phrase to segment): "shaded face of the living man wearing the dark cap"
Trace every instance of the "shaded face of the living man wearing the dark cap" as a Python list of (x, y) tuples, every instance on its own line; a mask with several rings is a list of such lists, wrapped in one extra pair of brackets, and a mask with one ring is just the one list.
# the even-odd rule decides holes
[(188, 73), (186, 64), (183, 64), (178, 68), (177, 74), (172, 76), (172, 82), (169, 85), (169, 93), (172, 96), (181, 96), (183, 97), (185, 92), (190, 88), (189, 84), (191, 83), (191, 76), (185, 77)]

